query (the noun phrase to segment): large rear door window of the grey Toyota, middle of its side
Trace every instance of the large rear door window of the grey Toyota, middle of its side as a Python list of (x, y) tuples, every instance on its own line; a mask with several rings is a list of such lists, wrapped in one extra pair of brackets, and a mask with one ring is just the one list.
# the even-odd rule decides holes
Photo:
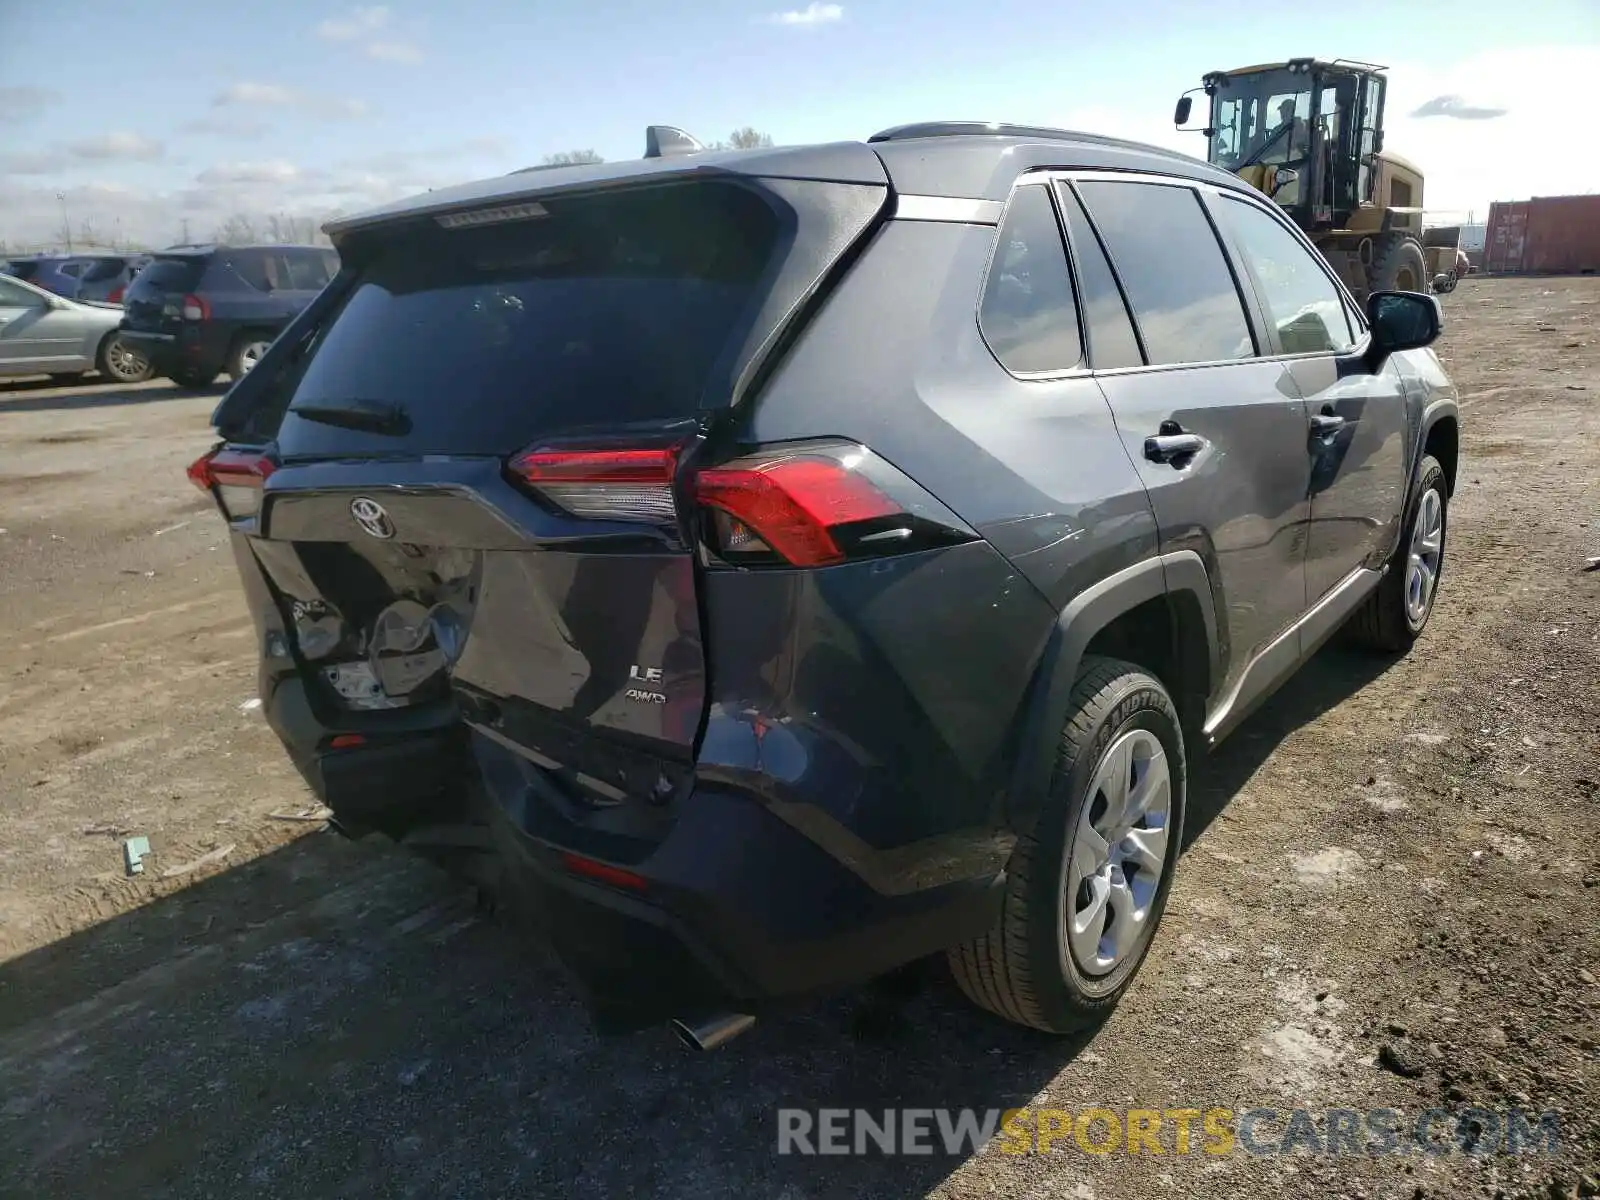
[(1256, 352), (1216, 232), (1189, 187), (1082, 182), (1133, 304), (1150, 363), (1208, 363)]

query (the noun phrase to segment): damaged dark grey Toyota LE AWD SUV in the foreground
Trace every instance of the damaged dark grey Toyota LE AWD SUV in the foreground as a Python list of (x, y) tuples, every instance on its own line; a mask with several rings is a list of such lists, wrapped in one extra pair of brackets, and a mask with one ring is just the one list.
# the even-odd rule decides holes
[(1363, 314), (1195, 160), (928, 125), (331, 234), (190, 472), (267, 720), (341, 822), (482, 803), (611, 1021), (709, 1043), (941, 950), (1011, 1021), (1093, 1019), (1189, 755), (1338, 629), (1427, 622), (1438, 302)]

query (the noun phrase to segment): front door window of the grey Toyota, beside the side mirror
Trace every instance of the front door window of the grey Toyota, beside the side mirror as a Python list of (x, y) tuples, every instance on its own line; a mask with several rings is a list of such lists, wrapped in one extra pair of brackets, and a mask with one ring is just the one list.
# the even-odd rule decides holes
[(1224, 197), (1222, 221), (1256, 277), (1283, 354), (1333, 354), (1352, 346), (1344, 296), (1290, 230), (1243, 200)]

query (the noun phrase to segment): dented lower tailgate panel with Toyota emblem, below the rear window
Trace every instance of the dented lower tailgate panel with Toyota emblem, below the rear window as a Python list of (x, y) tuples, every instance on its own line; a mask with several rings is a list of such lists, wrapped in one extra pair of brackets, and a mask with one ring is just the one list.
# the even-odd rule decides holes
[(650, 795), (656, 763), (690, 758), (704, 659), (670, 531), (595, 534), (499, 459), (290, 466), (264, 501), (250, 549), (323, 702), (454, 690), (483, 733), (589, 787)]

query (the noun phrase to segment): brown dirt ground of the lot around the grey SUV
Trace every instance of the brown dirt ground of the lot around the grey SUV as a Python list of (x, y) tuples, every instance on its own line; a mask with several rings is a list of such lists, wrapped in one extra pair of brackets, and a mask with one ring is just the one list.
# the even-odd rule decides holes
[[(0, 1195), (1594, 1195), (1600, 278), (1443, 302), (1464, 442), (1429, 632), (1322, 653), (1200, 765), (1150, 962), (1077, 1042), (938, 970), (712, 1054), (597, 1038), (438, 872), (272, 816), (310, 797), (182, 477), (214, 397), (0, 386)], [(781, 1107), (1522, 1107), (1560, 1142), (779, 1157)]]

